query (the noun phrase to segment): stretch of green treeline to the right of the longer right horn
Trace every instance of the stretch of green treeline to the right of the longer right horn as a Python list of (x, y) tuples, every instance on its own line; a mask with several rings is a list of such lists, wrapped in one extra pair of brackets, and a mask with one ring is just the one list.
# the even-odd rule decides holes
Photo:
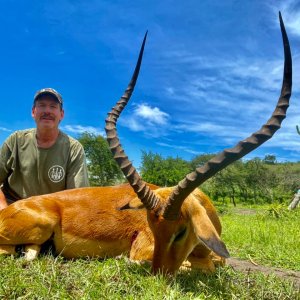
[(254, 158), (237, 161), (206, 182), (202, 189), (214, 200), (246, 203), (290, 202), (299, 188), (299, 163), (268, 164)]

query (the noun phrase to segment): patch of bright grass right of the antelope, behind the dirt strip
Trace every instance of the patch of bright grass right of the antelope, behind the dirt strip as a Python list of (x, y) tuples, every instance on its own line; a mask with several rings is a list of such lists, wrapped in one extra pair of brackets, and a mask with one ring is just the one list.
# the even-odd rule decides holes
[(300, 210), (281, 206), (254, 210), (254, 214), (232, 210), (222, 215), (222, 236), (231, 256), (300, 271)]

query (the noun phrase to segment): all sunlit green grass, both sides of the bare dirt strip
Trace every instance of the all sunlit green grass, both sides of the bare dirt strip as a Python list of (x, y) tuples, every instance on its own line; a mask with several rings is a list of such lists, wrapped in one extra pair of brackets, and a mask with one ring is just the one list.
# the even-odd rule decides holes
[[(232, 256), (299, 270), (300, 212), (277, 207), (222, 215)], [(215, 274), (152, 275), (149, 266), (126, 259), (64, 260), (52, 255), (25, 262), (0, 257), (0, 299), (300, 299), (300, 289), (273, 275), (241, 273), (227, 266)]]

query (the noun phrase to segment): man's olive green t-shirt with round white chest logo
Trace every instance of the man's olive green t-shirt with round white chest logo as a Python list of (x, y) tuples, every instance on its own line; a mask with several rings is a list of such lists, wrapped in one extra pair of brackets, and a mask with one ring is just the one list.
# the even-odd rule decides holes
[(55, 144), (39, 148), (36, 129), (14, 132), (0, 152), (0, 186), (10, 200), (88, 186), (82, 145), (65, 133)]

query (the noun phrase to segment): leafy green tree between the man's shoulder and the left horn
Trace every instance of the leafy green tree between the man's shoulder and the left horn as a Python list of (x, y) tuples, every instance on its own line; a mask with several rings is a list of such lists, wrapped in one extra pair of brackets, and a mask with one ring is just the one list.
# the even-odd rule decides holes
[(107, 141), (101, 135), (85, 132), (78, 137), (86, 157), (91, 186), (107, 186), (124, 181)]

